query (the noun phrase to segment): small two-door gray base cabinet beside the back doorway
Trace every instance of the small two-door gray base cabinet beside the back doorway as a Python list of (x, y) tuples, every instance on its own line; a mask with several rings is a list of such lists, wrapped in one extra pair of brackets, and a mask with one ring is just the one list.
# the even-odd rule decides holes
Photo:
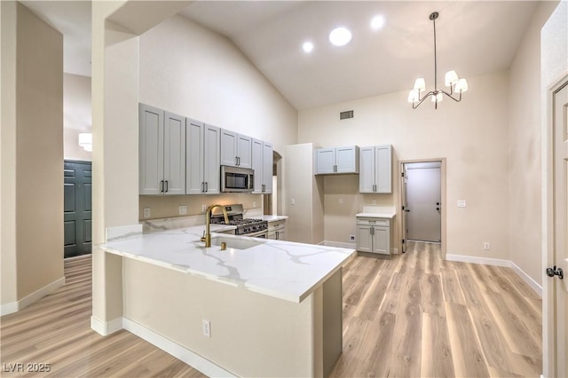
[(390, 219), (357, 217), (357, 250), (390, 255)]

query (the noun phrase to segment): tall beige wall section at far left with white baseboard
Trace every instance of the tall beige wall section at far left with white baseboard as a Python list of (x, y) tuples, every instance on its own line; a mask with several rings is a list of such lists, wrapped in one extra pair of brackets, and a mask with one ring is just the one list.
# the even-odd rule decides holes
[(0, 224), (6, 313), (65, 282), (63, 35), (20, 3), (2, 2), (1, 7)]

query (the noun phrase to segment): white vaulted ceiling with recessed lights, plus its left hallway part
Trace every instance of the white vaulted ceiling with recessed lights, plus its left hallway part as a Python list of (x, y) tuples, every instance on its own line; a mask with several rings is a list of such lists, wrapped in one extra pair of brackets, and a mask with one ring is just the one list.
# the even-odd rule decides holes
[[(65, 70), (91, 70), (91, 3), (24, 1), (65, 35)], [(530, 1), (196, 1), (181, 14), (227, 36), (297, 109), (410, 90), (434, 80), (431, 12), (438, 11), (438, 83), (510, 66), (538, 2)], [(381, 14), (381, 30), (369, 27)], [(327, 42), (351, 28), (343, 48)], [(88, 37), (87, 37), (88, 35)], [(311, 40), (311, 54), (302, 43)], [(75, 47), (74, 47), (75, 46)], [(475, 91), (475, 88), (470, 88)]]

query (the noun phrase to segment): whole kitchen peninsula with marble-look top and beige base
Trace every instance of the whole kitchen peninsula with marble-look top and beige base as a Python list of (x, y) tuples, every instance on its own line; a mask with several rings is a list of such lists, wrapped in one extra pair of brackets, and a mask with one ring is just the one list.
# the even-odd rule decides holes
[(341, 267), (355, 250), (215, 233), (222, 226), (204, 248), (204, 228), (99, 246), (122, 256), (122, 327), (208, 375), (327, 375), (342, 350)]

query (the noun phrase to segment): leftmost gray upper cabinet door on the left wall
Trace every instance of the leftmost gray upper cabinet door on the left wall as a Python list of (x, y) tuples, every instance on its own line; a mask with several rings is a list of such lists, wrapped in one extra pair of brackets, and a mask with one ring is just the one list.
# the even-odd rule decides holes
[(162, 109), (138, 106), (138, 188), (140, 194), (162, 194), (163, 185)]

